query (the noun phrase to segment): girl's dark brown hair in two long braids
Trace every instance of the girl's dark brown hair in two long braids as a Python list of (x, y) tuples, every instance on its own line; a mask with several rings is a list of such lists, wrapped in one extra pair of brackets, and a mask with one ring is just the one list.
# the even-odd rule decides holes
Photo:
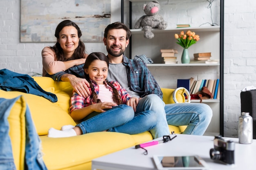
[[(101, 61), (105, 61), (107, 63), (107, 65), (109, 65), (109, 61), (108, 61), (108, 57), (106, 57), (105, 54), (103, 54), (102, 52), (92, 52), (91, 54), (88, 55), (88, 57), (86, 58), (85, 64), (83, 66), (84, 69), (88, 69), (89, 65), (94, 61), (94, 60), (101, 60)], [(85, 78), (86, 80), (90, 83), (90, 87), (91, 87), (91, 97), (92, 97), (92, 102), (94, 103), (100, 103), (101, 100), (98, 98), (96, 92), (94, 91), (94, 87), (92, 85), (92, 82), (89, 78), (89, 75), (85, 73)], [(108, 83), (108, 85), (110, 85), (110, 87), (113, 89), (113, 100), (114, 102), (117, 103), (117, 105), (121, 105), (123, 102), (121, 100), (121, 96), (119, 95), (117, 89), (110, 84), (107, 80), (106, 83)]]

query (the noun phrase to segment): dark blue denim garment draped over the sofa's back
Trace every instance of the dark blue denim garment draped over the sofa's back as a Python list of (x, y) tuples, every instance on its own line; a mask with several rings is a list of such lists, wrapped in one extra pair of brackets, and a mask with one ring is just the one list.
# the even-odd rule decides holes
[(55, 94), (45, 92), (45, 90), (34, 81), (34, 78), (28, 74), (19, 74), (7, 69), (0, 70), (0, 89), (35, 94), (37, 96), (43, 96), (52, 102), (58, 101)]

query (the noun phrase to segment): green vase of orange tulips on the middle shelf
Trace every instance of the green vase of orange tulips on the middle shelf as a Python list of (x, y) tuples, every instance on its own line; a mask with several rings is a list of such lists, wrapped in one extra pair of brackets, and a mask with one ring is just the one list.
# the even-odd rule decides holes
[(183, 47), (181, 63), (189, 63), (190, 57), (188, 48), (200, 39), (199, 35), (195, 35), (195, 32), (191, 31), (187, 31), (186, 34), (184, 34), (184, 31), (180, 31), (180, 34), (175, 34), (174, 37), (178, 40), (177, 44)]

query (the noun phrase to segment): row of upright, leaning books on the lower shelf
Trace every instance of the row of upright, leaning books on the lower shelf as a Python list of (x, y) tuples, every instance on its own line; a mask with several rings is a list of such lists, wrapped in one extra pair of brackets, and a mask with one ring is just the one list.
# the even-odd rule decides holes
[(200, 79), (194, 80), (190, 79), (190, 94), (196, 94), (199, 92), (202, 87), (207, 87), (211, 94), (213, 94), (213, 99), (220, 99), (220, 79)]

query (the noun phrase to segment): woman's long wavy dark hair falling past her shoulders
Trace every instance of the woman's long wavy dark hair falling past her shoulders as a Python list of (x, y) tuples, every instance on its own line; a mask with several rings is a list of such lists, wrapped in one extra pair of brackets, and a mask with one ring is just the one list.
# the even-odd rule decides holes
[(54, 46), (50, 47), (54, 52), (56, 53), (56, 57), (58, 61), (67, 61), (64, 57), (63, 49), (61, 48), (61, 45), (58, 43), (58, 39), (60, 38), (59, 33), (65, 26), (74, 26), (77, 30), (77, 35), (79, 37), (79, 44), (76, 50), (74, 51), (74, 54), (71, 59), (81, 59), (85, 56), (85, 45), (81, 41), (80, 37), (82, 36), (82, 32), (76, 23), (70, 21), (70, 20), (64, 20), (61, 23), (58, 24), (55, 30), (55, 37), (57, 38), (57, 42)]

